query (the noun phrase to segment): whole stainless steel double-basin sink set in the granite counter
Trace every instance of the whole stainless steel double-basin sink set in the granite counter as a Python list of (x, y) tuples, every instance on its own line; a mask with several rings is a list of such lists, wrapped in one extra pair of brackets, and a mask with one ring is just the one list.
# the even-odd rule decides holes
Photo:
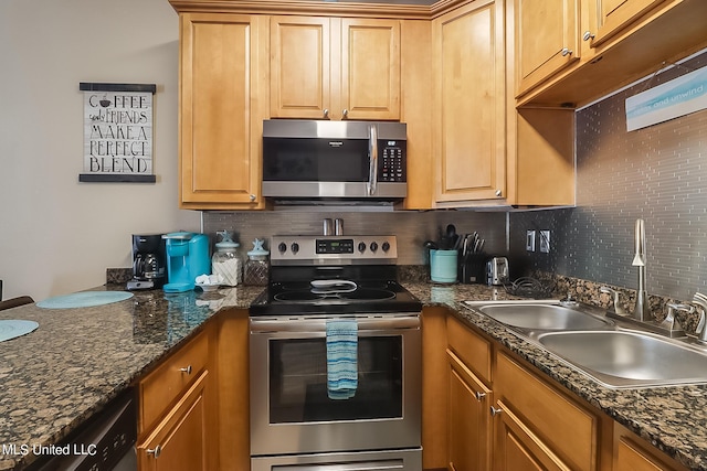
[(595, 382), (612, 388), (707, 383), (707, 351), (625, 329), (589, 307), (559, 301), (465, 301)]

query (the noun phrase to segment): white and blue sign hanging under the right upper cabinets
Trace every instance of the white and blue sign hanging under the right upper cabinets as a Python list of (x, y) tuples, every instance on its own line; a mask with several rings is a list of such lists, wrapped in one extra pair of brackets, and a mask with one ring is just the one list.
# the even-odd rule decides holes
[(647, 128), (707, 108), (707, 67), (626, 98), (626, 130)]

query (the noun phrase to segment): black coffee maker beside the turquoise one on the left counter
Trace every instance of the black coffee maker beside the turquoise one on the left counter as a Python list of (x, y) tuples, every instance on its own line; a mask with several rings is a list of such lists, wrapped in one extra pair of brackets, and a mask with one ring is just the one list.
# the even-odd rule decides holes
[(133, 234), (133, 279), (127, 289), (161, 288), (167, 281), (167, 251), (161, 234)]

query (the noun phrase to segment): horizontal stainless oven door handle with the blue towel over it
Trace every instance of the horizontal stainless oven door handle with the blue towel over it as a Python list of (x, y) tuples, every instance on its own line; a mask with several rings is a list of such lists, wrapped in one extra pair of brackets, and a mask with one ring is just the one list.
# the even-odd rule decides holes
[[(334, 318), (333, 318), (334, 319)], [(342, 318), (350, 319), (350, 318)], [(420, 329), (420, 315), (356, 318), (359, 331)], [(326, 332), (326, 318), (260, 319), (251, 318), (252, 333)]]

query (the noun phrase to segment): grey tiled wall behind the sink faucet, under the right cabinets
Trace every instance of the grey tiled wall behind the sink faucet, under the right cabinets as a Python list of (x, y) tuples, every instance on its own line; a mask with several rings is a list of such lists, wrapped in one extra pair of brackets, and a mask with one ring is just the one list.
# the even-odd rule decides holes
[[(577, 207), (510, 214), (510, 247), (528, 268), (635, 289), (635, 220), (645, 220), (647, 290), (707, 292), (707, 110), (626, 132), (625, 99), (707, 66), (707, 53), (577, 115)], [(527, 254), (526, 229), (552, 229), (551, 254)]]

